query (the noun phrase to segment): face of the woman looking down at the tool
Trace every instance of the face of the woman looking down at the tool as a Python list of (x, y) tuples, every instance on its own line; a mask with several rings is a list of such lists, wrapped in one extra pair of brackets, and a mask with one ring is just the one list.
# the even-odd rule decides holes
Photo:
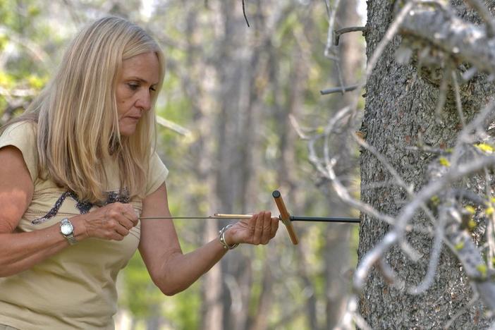
[(157, 54), (144, 53), (123, 61), (115, 92), (121, 135), (129, 136), (135, 132), (142, 113), (151, 109), (152, 95), (157, 92), (158, 82)]

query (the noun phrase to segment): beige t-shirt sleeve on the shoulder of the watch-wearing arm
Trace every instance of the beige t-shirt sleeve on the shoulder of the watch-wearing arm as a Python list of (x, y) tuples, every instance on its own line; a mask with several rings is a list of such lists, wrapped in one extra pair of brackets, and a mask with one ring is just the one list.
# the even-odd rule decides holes
[(38, 176), (38, 152), (36, 147), (35, 123), (21, 121), (13, 123), (0, 135), (0, 148), (11, 145), (22, 152), (32, 182)]

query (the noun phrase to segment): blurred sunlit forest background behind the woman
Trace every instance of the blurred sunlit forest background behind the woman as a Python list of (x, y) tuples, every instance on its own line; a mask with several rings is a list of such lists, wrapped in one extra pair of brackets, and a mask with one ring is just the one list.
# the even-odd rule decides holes
[[(365, 63), (355, 1), (0, 1), (0, 124), (20, 114), (51, 78), (74, 33), (106, 14), (133, 20), (161, 44), (167, 73), (157, 104), (161, 159), (176, 216), (269, 209), (281, 190), (289, 212), (357, 216), (308, 161), (307, 134), (350, 102), (320, 94), (353, 85)], [(358, 104), (362, 108), (362, 101)], [(300, 133), (300, 132), (299, 132)], [(95, 132), (96, 134), (96, 132)], [(339, 145), (338, 175), (359, 198), (358, 151)], [(185, 252), (224, 221), (176, 221)], [(242, 246), (191, 288), (165, 297), (139, 255), (121, 273), (118, 329), (332, 329), (342, 324), (357, 262), (352, 224), (295, 224), (267, 246)]]

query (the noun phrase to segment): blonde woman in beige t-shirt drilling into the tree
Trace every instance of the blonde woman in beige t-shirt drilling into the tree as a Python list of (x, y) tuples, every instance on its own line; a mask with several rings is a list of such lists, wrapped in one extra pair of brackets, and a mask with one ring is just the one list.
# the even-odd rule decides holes
[(0, 136), (0, 329), (113, 329), (116, 276), (139, 248), (166, 295), (239, 243), (266, 244), (260, 212), (183, 255), (168, 170), (154, 152), (164, 56), (140, 27), (106, 17), (83, 29), (26, 113)]

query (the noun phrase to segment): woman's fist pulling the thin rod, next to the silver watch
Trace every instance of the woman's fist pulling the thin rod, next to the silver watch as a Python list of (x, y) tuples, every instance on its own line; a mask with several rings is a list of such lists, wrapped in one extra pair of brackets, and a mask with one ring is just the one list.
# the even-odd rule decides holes
[[(138, 224), (138, 215), (131, 204), (112, 203), (80, 216), (86, 236), (104, 240), (123, 240)], [(74, 219), (75, 220), (75, 219)], [(71, 220), (72, 221), (72, 220)]]

